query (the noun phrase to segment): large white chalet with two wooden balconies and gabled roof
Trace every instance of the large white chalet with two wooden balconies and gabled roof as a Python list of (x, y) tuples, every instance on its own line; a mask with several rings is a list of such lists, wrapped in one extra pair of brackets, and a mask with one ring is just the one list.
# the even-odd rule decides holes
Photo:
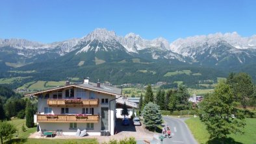
[(99, 82), (84, 80), (27, 94), (38, 99), (38, 112), (34, 122), (40, 130), (60, 130), (63, 135), (75, 135), (77, 128), (88, 135), (100, 135), (101, 130), (114, 135), (116, 125), (116, 98), (122, 89), (101, 86)]

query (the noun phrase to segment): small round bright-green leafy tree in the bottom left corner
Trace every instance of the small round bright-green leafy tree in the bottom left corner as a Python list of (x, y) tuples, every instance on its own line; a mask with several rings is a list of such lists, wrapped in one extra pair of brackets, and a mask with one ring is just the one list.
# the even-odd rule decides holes
[(13, 134), (16, 132), (14, 125), (6, 122), (0, 121), (0, 139), (3, 144), (3, 140), (12, 139)]

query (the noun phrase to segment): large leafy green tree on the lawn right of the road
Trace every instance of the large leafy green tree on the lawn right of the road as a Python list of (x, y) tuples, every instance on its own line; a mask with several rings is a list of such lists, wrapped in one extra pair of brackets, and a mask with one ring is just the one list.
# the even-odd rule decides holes
[[(223, 139), (231, 133), (242, 133), (244, 112), (237, 108), (233, 92), (224, 82), (199, 104), (199, 117), (207, 126), (211, 139)], [(235, 117), (233, 117), (235, 115)]]

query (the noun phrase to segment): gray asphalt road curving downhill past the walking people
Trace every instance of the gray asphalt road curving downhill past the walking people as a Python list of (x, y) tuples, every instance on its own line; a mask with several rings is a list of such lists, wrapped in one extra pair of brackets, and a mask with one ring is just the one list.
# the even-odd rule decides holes
[(173, 117), (163, 117), (165, 124), (169, 125), (172, 132), (172, 138), (164, 138), (162, 143), (180, 143), (180, 144), (197, 144), (198, 142), (192, 136), (183, 119)]

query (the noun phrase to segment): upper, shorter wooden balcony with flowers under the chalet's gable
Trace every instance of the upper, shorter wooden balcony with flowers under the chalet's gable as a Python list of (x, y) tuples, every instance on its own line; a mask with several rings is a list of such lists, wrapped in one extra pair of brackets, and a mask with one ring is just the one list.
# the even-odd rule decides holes
[(99, 99), (47, 99), (48, 106), (98, 106)]

